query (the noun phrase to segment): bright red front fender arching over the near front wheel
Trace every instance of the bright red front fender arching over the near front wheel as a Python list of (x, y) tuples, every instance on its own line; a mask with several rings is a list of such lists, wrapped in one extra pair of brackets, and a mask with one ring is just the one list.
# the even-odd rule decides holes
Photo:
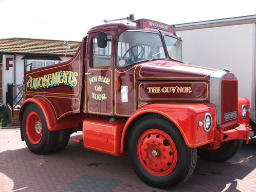
[[(212, 115), (212, 128), (206, 132), (204, 125), (198, 126), (198, 121), (204, 122), (205, 114)], [(187, 146), (199, 147), (214, 140), (214, 130), (216, 129), (216, 109), (213, 104), (194, 103), (160, 103), (151, 104), (136, 110), (127, 120), (121, 138), (121, 152), (123, 152), (124, 139), (126, 133), (135, 121), (147, 113), (157, 113), (168, 118), (179, 129)]]

